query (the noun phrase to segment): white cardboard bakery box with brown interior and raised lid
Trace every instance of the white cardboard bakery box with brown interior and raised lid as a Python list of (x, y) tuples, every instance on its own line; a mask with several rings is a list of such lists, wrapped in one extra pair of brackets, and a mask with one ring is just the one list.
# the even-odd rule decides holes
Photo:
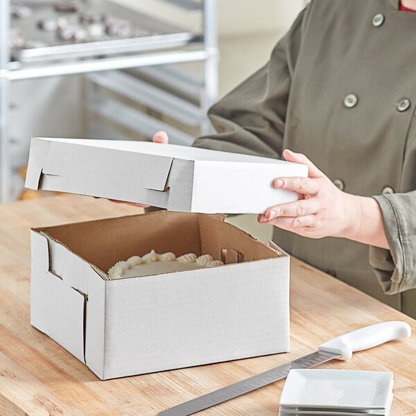
[[(265, 179), (270, 206), (296, 198), (272, 189), (272, 179), (306, 172), (184, 146), (32, 139), (26, 186), (182, 211), (252, 212)], [(239, 198), (244, 180), (256, 186)], [(288, 254), (223, 219), (155, 211), (32, 229), (31, 324), (100, 379), (288, 352)], [(109, 278), (114, 263), (151, 250), (210, 254), (225, 264)]]

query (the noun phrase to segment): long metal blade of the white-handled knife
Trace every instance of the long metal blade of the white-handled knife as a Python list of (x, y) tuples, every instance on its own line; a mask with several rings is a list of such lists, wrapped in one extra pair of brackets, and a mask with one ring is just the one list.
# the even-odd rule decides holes
[(234, 397), (244, 395), (245, 393), (261, 388), (264, 385), (274, 383), (281, 379), (285, 379), (286, 376), (293, 368), (311, 368), (315, 365), (325, 363), (333, 358), (339, 358), (340, 354), (333, 354), (331, 352), (313, 352), (302, 358), (297, 358), (295, 361), (279, 365), (279, 367), (272, 368), (255, 376), (249, 377), (238, 381), (237, 383), (227, 385), (226, 387), (215, 390), (214, 392), (207, 393), (196, 399), (186, 401), (185, 403), (178, 404), (167, 410), (163, 410), (157, 416), (188, 416), (193, 413), (199, 412), (216, 404), (223, 403)]

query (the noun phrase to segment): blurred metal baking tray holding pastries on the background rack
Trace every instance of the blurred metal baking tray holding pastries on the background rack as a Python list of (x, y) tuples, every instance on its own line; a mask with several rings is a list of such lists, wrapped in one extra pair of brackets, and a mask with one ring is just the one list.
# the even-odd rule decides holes
[[(38, 22), (41, 19), (64, 17), (70, 26), (83, 26), (79, 23), (78, 12), (56, 12), (53, 1), (19, 2), (19, 5), (30, 7), (33, 13), (29, 17), (12, 19), (12, 32), (21, 33), (24, 40), (42, 42), (44, 45), (29, 49), (12, 49), (12, 60), (20, 62), (76, 60), (102, 55), (140, 53), (153, 49), (171, 49), (200, 40), (200, 36), (189, 31), (109, 0), (89, 0), (81, 4), (83, 12), (102, 13), (111, 19), (125, 19), (132, 22), (133, 33), (125, 37), (114, 37), (103, 33), (95, 39), (89, 38), (84, 42), (60, 40), (57, 33), (42, 31), (38, 27)], [(83, 27), (87, 28), (87, 26)]]

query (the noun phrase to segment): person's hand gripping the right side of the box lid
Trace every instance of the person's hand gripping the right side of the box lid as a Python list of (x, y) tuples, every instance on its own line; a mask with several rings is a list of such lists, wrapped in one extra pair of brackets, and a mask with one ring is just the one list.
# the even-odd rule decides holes
[(301, 236), (351, 238), (359, 227), (359, 202), (356, 196), (340, 191), (305, 155), (284, 150), (288, 162), (309, 166), (308, 177), (278, 177), (277, 189), (290, 189), (300, 199), (266, 209), (259, 223), (267, 223)]

